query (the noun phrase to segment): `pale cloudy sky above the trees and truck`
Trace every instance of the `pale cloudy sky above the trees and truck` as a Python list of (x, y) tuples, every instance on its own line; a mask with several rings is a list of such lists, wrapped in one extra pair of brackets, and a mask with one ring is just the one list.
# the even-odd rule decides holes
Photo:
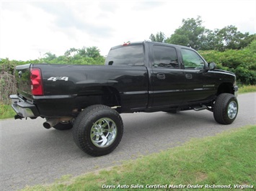
[(170, 37), (182, 19), (206, 29), (229, 25), (256, 33), (256, 0), (5, 1), (0, 0), (0, 58), (35, 60), (46, 52), (98, 47), (105, 56), (123, 42)]

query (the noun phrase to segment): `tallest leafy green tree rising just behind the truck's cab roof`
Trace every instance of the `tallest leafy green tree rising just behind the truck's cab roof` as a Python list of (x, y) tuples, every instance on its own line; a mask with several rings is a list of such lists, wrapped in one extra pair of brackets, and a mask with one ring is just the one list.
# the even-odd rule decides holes
[(205, 27), (202, 27), (200, 16), (197, 19), (182, 19), (182, 26), (176, 29), (175, 33), (167, 38), (166, 42), (190, 46), (195, 50), (200, 50), (204, 32)]

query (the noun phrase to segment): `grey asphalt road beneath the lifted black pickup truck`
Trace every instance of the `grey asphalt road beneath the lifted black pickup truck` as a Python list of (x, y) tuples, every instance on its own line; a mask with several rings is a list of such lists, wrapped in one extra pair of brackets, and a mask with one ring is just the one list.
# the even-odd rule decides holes
[(239, 95), (238, 101), (239, 114), (228, 126), (217, 124), (209, 111), (122, 114), (123, 139), (114, 152), (103, 157), (81, 152), (71, 130), (43, 128), (44, 119), (0, 121), (0, 190), (48, 184), (66, 174), (84, 174), (177, 146), (191, 138), (256, 124), (256, 93)]

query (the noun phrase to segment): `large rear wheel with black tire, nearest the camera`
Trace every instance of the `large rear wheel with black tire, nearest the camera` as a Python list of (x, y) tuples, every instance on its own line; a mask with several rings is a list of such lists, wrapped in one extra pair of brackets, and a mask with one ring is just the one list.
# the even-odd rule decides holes
[(123, 121), (110, 107), (94, 105), (85, 108), (73, 127), (74, 141), (87, 154), (98, 157), (112, 152), (123, 136)]

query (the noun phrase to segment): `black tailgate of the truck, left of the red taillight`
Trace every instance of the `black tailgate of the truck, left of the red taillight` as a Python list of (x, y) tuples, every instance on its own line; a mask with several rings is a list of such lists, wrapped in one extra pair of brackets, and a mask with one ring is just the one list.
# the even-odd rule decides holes
[(22, 97), (32, 100), (31, 82), (30, 82), (30, 65), (18, 65), (15, 71), (17, 80), (17, 92)]

